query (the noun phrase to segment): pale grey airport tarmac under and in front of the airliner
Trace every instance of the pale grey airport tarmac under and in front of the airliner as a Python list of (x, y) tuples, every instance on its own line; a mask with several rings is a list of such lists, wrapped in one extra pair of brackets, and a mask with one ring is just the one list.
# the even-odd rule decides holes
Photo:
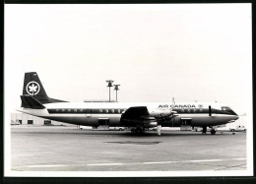
[(14, 171), (245, 170), (246, 133), (80, 130), (12, 126)]

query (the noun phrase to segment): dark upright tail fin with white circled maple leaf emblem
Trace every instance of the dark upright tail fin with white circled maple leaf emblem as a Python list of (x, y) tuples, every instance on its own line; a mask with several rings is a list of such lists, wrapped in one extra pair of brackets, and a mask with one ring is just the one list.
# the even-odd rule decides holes
[(53, 99), (48, 97), (47, 93), (44, 91), (43, 86), (37, 76), (36, 72), (25, 73), (23, 95), (30, 94), (38, 102), (53, 103), (53, 102), (66, 102), (59, 99)]

